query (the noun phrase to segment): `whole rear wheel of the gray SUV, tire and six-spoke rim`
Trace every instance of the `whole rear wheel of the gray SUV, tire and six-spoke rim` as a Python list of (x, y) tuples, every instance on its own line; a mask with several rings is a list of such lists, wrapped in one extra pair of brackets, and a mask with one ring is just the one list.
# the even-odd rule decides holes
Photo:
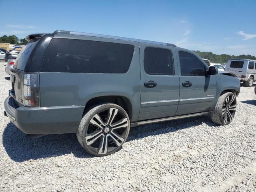
[(126, 111), (116, 104), (100, 104), (82, 118), (76, 136), (82, 147), (94, 156), (118, 151), (130, 131)]

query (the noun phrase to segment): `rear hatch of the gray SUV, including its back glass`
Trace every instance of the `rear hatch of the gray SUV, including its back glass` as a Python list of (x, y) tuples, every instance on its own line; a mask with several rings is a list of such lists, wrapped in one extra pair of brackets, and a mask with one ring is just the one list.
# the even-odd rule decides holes
[(28, 58), (37, 43), (38, 40), (31, 40), (28, 42), (28, 44), (26, 44), (16, 58), (14, 68), (12, 69), (12, 74), (10, 76), (12, 90), (10, 90), (10, 96), (16, 100), (16, 104), (18, 106), (24, 105), (24, 69), (26, 67), (26, 63), (28, 62)]

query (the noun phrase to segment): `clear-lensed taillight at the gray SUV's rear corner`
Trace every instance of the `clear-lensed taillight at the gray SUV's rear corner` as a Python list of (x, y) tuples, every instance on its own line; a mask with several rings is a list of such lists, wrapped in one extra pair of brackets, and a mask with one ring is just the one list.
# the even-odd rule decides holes
[(39, 107), (38, 73), (25, 73), (23, 78), (23, 104), (27, 107)]

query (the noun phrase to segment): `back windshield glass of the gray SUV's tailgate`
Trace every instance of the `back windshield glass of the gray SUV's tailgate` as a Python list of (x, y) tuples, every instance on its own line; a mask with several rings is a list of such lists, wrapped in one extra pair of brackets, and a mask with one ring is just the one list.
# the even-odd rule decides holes
[(24, 71), (28, 58), (32, 50), (36, 46), (37, 42), (38, 39), (36, 39), (35, 41), (31, 40), (26, 44), (26, 46), (24, 46), (24, 48), (19, 52), (16, 58), (14, 68)]

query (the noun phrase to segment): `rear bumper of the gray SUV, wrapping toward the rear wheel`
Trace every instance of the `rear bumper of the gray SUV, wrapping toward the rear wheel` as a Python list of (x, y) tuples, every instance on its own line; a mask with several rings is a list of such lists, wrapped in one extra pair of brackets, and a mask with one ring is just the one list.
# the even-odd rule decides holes
[(5, 115), (25, 134), (63, 134), (78, 130), (84, 106), (17, 107), (14, 98), (4, 101)]

